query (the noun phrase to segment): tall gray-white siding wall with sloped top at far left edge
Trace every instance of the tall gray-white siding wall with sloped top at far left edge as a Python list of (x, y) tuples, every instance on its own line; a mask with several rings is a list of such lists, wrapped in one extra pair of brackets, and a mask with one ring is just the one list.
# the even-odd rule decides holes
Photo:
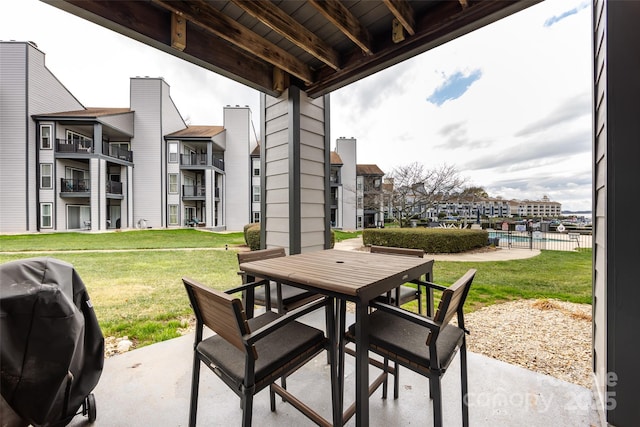
[(29, 43), (0, 43), (0, 181), (24, 183), (0, 193), (1, 232), (37, 231), (38, 145), (31, 115), (83, 108), (44, 59)]

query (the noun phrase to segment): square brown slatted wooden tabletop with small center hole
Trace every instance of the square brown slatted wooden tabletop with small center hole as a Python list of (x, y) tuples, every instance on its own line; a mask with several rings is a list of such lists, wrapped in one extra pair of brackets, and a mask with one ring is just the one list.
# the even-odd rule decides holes
[(380, 295), (431, 272), (433, 260), (328, 249), (246, 262), (248, 274), (350, 297)]

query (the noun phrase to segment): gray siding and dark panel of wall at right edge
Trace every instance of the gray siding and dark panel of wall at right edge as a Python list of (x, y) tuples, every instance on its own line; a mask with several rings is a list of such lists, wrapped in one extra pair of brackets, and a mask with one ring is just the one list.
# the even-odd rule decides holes
[[(594, 370), (611, 425), (640, 422), (638, 231), (640, 2), (594, 3)], [(603, 307), (604, 306), (604, 307)]]

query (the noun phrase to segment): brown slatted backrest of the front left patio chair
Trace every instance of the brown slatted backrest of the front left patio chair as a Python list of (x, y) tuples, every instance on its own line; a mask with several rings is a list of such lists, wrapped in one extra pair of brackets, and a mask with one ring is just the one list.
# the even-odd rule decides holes
[[(246, 348), (242, 336), (248, 334), (249, 324), (242, 302), (231, 295), (208, 288), (193, 279), (183, 277), (196, 320), (227, 340), (242, 352)], [(253, 350), (255, 354), (255, 349)]]

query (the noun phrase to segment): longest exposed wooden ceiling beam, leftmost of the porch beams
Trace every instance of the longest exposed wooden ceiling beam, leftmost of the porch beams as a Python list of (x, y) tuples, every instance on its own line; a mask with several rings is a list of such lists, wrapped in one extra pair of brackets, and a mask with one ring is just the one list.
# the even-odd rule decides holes
[(265, 40), (248, 28), (238, 24), (223, 15), (204, 0), (173, 2), (168, 0), (153, 0), (159, 6), (177, 13), (201, 29), (215, 34), (227, 42), (256, 55), (258, 58), (281, 68), (299, 78), (306, 84), (313, 82), (311, 69), (296, 57)]

